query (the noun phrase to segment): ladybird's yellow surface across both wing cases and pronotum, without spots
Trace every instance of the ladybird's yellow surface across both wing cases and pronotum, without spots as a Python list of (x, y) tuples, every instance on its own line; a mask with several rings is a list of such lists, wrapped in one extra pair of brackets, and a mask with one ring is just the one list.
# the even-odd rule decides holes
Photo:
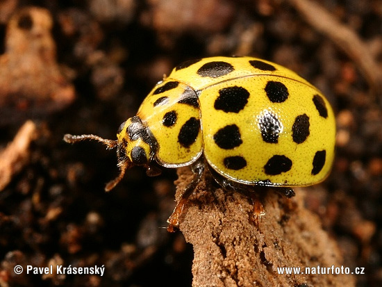
[[(250, 57), (204, 58), (189, 67), (174, 69), (165, 81), (158, 83), (142, 102), (138, 116), (158, 142), (156, 160), (165, 167), (189, 165), (204, 154), (208, 164), (219, 174), (233, 181), (256, 184), (267, 181), (269, 186), (308, 186), (325, 179), (331, 170), (335, 145), (335, 117), (329, 102), (313, 85), (296, 73), (266, 60), (261, 60), (276, 68), (275, 71), (254, 69), (249, 60), (261, 60)], [(224, 61), (233, 65), (234, 70), (224, 76), (212, 78), (199, 76), (198, 69), (212, 61)], [(153, 95), (154, 91), (169, 81), (179, 81), (171, 90)], [(265, 93), (268, 81), (283, 83), (289, 91), (289, 97), (282, 103), (272, 103)], [(231, 86), (240, 86), (249, 92), (247, 105), (239, 113), (226, 113), (216, 110), (214, 103), (219, 90)], [(187, 87), (199, 96), (200, 108), (178, 104), (181, 94)], [(328, 116), (319, 116), (313, 104), (313, 96), (324, 99)], [(168, 97), (166, 104), (154, 106), (160, 97)], [(163, 126), (163, 117), (169, 111), (176, 111), (174, 126)], [(262, 140), (259, 117), (269, 113), (281, 122), (281, 133), (277, 143)], [(298, 115), (309, 117), (308, 138), (297, 144), (292, 140), (292, 126)], [(197, 140), (190, 147), (182, 147), (178, 142), (181, 126), (190, 117), (201, 120), (201, 129)], [(215, 144), (213, 136), (226, 125), (236, 124), (240, 129), (242, 144), (233, 149), (222, 149)], [(122, 135), (123, 136), (123, 135)], [(146, 148), (145, 148), (146, 149)], [(316, 151), (326, 150), (326, 161), (322, 170), (312, 174), (313, 158)], [(274, 155), (285, 155), (292, 161), (292, 168), (277, 175), (265, 174), (264, 166)], [(240, 170), (230, 170), (224, 165), (227, 156), (242, 156), (247, 165)], [(260, 182), (261, 183), (261, 182)], [(264, 184), (264, 183), (262, 183)]]

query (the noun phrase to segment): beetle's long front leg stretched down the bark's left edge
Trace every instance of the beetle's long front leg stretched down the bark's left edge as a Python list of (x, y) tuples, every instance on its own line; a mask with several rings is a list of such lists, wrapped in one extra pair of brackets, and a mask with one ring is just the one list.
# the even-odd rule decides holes
[(188, 183), (188, 186), (186, 186), (183, 190), (181, 199), (179, 200), (178, 204), (176, 204), (172, 215), (167, 220), (167, 223), (169, 224), (167, 227), (167, 231), (169, 232), (174, 232), (175, 229), (179, 227), (179, 218), (183, 213), (185, 204), (188, 202), (188, 197), (190, 197), (194, 189), (197, 187), (198, 183), (201, 181), (201, 176), (204, 172), (203, 161), (198, 161), (192, 167), (192, 171), (194, 172), (194, 179), (192, 179), (192, 181)]

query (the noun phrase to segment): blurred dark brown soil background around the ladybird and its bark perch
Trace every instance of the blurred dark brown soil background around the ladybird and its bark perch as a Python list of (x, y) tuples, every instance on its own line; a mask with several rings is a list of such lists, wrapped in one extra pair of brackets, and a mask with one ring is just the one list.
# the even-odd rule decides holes
[[(190, 286), (192, 247), (163, 228), (174, 170), (148, 178), (135, 167), (106, 193), (115, 151), (62, 138), (115, 139), (163, 74), (217, 55), (285, 65), (329, 99), (337, 155), (329, 179), (307, 188), (306, 206), (337, 240), (344, 267), (365, 268), (358, 286), (381, 286), (382, 1), (305, 3), (1, 1), (0, 286)], [(106, 271), (16, 275), (17, 264)]]

